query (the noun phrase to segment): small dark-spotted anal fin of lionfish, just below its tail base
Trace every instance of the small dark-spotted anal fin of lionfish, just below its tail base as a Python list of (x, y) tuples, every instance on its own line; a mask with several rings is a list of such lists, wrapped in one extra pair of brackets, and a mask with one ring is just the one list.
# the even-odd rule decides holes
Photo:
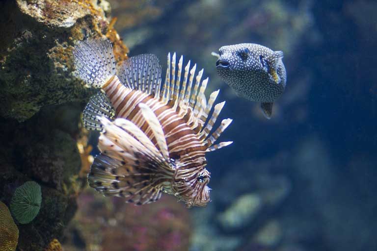
[(99, 92), (93, 95), (86, 104), (82, 113), (82, 122), (88, 130), (102, 130), (102, 124), (98, 117), (106, 117), (112, 120), (115, 116), (114, 108), (107, 95)]

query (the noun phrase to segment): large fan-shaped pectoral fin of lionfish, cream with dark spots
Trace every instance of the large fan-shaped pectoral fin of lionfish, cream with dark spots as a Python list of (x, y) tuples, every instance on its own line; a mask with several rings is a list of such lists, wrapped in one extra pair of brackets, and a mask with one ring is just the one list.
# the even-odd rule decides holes
[(104, 131), (98, 155), (88, 176), (89, 184), (106, 196), (119, 196), (136, 205), (157, 201), (163, 181), (174, 171), (150, 139), (126, 119), (99, 118)]

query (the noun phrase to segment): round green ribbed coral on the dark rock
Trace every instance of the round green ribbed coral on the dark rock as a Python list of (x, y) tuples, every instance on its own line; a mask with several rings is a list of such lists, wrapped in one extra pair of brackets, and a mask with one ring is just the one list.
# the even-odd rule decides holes
[(34, 181), (27, 181), (18, 187), (10, 203), (10, 211), (21, 224), (31, 222), (41, 208), (41, 187)]

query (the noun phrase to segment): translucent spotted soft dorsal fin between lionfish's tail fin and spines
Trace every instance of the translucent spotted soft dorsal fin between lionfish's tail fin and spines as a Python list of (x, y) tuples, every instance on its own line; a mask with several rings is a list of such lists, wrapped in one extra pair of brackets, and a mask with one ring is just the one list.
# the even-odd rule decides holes
[(161, 65), (154, 54), (141, 54), (123, 62), (117, 74), (127, 87), (147, 94), (154, 94), (160, 89)]

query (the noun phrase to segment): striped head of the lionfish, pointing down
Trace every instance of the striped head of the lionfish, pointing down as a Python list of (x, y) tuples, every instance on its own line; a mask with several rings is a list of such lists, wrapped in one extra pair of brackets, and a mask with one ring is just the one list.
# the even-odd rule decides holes
[(201, 168), (201, 171), (192, 173), (189, 178), (180, 176), (187, 176), (187, 170), (177, 172), (175, 180), (179, 181), (173, 185), (175, 195), (181, 201), (185, 201), (187, 207), (206, 206), (210, 202), (211, 188), (207, 185), (210, 182), (211, 173)]

